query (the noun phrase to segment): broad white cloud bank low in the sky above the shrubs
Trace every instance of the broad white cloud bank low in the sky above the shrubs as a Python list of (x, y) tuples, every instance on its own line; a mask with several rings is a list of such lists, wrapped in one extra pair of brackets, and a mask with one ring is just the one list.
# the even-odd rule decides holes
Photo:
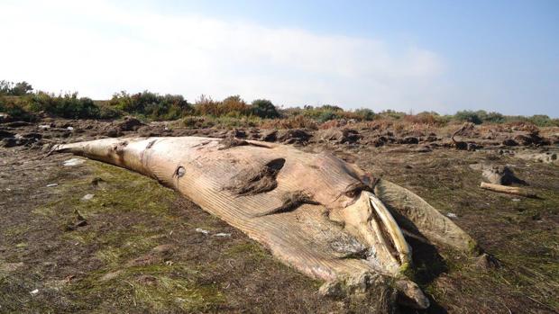
[(103, 1), (4, 3), (0, 27), (0, 79), (92, 98), (149, 89), (407, 111), (439, 103), (444, 73), (441, 58), (418, 47)]

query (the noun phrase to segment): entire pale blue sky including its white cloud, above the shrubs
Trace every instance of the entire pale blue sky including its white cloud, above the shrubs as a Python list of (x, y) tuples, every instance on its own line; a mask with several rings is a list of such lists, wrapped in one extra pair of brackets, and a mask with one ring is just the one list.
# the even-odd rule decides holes
[(77, 3), (0, 3), (0, 79), (93, 98), (559, 117), (558, 1)]

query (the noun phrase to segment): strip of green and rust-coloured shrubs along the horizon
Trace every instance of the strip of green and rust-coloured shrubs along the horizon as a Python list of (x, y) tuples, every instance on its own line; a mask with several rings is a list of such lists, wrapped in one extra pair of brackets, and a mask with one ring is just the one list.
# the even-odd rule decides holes
[(240, 95), (217, 101), (204, 94), (189, 103), (180, 94), (157, 94), (150, 91), (129, 94), (121, 91), (109, 100), (92, 100), (78, 93), (52, 94), (34, 91), (27, 82), (0, 81), (0, 112), (14, 121), (39, 121), (50, 116), (66, 119), (114, 120), (133, 115), (143, 121), (176, 121), (193, 128), (268, 126), (272, 128), (317, 129), (335, 121), (404, 121), (409, 123), (445, 126), (472, 122), (495, 124), (530, 122), (538, 127), (559, 127), (559, 119), (544, 114), (511, 116), (499, 112), (459, 111), (452, 115), (437, 112), (410, 114), (386, 110), (373, 112), (362, 108), (344, 110), (324, 104), (318, 106), (282, 108), (267, 99), (246, 103)]

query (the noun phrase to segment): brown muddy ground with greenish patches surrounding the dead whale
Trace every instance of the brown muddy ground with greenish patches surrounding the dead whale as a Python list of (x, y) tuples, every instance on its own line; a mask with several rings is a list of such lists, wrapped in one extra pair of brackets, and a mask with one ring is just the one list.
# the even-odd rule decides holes
[[(499, 266), (479, 265), (472, 256), (434, 252), (408, 239), (415, 248), (416, 281), (433, 303), (425, 312), (556, 313), (559, 130), (466, 127), (453, 141), (459, 127), (274, 131), (192, 130), (133, 120), (0, 124), (0, 313), (374, 308), (375, 300), (321, 298), (321, 283), (147, 177), (85, 159), (65, 166), (73, 157), (47, 156), (53, 143), (136, 135), (234, 135), (332, 152), (422, 196), (496, 258)], [(508, 165), (538, 197), (481, 190), (485, 164)]]

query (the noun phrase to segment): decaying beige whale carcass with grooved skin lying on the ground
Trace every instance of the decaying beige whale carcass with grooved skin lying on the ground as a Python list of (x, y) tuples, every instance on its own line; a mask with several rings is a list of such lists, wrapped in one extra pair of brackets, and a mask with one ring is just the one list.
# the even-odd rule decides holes
[(405, 276), (413, 265), (403, 234), (464, 252), (476, 247), (416, 194), (329, 154), (196, 137), (99, 139), (53, 151), (151, 176), (304, 274), (346, 287), (394, 283), (420, 309), (429, 302)]

